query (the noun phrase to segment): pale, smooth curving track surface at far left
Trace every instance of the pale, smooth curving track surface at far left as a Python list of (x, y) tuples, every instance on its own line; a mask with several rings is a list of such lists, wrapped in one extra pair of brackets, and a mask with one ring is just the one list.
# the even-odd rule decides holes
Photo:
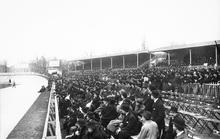
[(0, 76), (0, 83), (16, 82), (16, 88), (0, 89), (0, 138), (5, 139), (18, 124), (35, 100), (47, 80), (39, 76)]

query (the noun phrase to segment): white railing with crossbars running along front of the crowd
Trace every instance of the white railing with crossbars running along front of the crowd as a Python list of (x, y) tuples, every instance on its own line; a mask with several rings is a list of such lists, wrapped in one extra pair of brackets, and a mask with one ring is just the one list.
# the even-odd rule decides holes
[(60, 121), (59, 121), (59, 110), (58, 110), (58, 99), (55, 95), (55, 83), (53, 82), (47, 116), (44, 125), (44, 132), (42, 139), (61, 139)]

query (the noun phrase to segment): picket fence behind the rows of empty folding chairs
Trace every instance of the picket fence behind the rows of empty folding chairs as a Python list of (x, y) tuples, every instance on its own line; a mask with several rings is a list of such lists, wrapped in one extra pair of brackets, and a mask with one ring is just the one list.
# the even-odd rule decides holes
[[(195, 94), (210, 96), (220, 99), (220, 84), (210, 83), (210, 84), (175, 84), (175, 91), (183, 94)], [(167, 91), (167, 83), (163, 83), (163, 90)]]

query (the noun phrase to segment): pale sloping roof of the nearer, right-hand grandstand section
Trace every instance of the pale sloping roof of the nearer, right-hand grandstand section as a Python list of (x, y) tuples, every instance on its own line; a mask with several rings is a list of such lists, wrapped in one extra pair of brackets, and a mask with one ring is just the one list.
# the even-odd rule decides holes
[[(217, 42), (217, 44), (220, 44), (220, 40), (216, 40), (216, 42)], [(204, 46), (212, 46), (212, 45), (216, 45), (215, 41), (166, 46), (166, 47), (161, 47), (161, 48), (151, 50), (150, 52), (171, 51), (171, 50), (187, 49), (187, 48), (195, 48), (195, 47), (204, 47)]]

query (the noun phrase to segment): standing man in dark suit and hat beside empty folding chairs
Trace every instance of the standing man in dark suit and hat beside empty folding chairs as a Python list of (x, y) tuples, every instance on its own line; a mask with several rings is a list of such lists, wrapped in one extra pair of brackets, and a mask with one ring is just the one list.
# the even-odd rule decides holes
[(152, 91), (151, 99), (154, 101), (153, 111), (152, 111), (152, 119), (158, 125), (159, 134), (165, 131), (165, 110), (164, 105), (161, 99), (159, 99), (159, 92), (157, 90)]

